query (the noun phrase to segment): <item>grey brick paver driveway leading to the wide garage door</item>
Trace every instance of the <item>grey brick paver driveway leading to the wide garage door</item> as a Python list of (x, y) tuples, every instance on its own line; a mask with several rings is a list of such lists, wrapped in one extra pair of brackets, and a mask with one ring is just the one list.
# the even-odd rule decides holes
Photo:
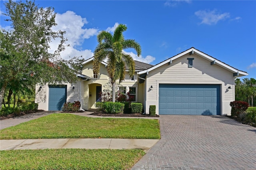
[(132, 168), (256, 169), (256, 128), (223, 116), (160, 115), (161, 140)]

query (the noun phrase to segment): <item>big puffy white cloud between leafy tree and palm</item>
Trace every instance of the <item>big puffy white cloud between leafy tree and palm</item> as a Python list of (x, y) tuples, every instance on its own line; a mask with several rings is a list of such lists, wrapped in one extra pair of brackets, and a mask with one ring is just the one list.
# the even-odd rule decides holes
[[(84, 59), (92, 57), (93, 53), (90, 49), (78, 50), (76, 47), (81, 46), (84, 39), (97, 35), (98, 29), (83, 28), (85, 24), (88, 24), (88, 21), (86, 18), (76, 15), (76, 13), (73, 11), (67, 11), (63, 14), (57, 13), (55, 21), (58, 25), (54, 27), (53, 30), (65, 31), (66, 34), (64, 34), (64, 37), (68, 39), (66, 44), (70, 45), (60, 53), (60, 56), (63, 59), (80, 55), (82, 55)], [(50, 43), (50, 52), (54, 52), (54, 50), (57, 49), (59, 41), (59, 39), (56, 39)]]

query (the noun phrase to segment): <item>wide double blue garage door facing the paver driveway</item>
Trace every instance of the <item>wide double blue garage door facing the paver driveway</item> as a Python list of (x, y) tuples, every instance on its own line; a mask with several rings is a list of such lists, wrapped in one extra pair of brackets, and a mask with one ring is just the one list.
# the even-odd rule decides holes
[(220, 85), (159, 85), (160, 115), (220, 115)]

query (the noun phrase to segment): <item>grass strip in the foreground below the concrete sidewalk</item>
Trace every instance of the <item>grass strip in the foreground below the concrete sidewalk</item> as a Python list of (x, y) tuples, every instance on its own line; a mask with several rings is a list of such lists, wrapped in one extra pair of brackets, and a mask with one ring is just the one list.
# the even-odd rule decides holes
[(138, 149), (43, 149), (2, 150), (2, 170), (126, 170), (132, 168), (145, 152)]

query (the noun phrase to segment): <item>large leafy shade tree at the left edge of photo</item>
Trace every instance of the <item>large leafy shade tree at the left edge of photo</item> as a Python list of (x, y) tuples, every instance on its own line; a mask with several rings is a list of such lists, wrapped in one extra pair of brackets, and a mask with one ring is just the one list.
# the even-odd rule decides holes
[[(57, 25), (54, 9), (39, 8), (29, 0), (9, 0), (5, 7), (11, 29), (0, 30), (0, 109), (6, 91), (17, 94), (36, 84), (76, 82), (84, 59), (60, 57), (67, 39), (65, 32), (53, 30)], [(59, 40), (54, 52), (49, 51), (52, 40)]]

